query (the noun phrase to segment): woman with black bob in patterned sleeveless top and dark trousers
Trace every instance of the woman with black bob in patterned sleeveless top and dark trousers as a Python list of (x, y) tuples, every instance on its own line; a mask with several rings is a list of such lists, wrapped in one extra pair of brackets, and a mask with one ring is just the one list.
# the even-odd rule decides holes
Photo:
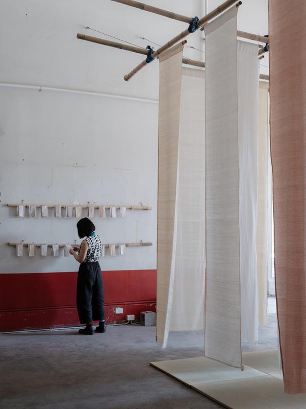
[[(77, 308), (81, 324), (85, 328), (80, 334), (92, 335), (93, 321), (99, 320), (95, 332), (105, 332), (104, 291), (99, 258), (101, 239), (95, 232), (95, 226), (87, 217), (77, 223), (80, 239), (86, 237), (80, 247), (72, 247), (69, 252), (80, 263), (77, 284)], [(78, 254), (76, 253), (78, 252)]]

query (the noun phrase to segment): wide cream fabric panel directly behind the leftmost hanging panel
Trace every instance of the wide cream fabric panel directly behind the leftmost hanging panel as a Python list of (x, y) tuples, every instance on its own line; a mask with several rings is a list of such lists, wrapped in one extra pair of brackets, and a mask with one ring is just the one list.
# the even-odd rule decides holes
[(205, 72), (183, 68), (170, 331), (204, 328)]

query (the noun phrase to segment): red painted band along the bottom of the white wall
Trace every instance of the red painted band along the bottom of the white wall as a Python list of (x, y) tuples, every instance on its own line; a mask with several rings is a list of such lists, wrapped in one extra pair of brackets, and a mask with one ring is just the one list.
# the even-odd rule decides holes
[[(79, 325), (77, 272), (0, 274), (0, 331)], [(104, 271), (107, 323), (156, 310), (156, 270)], [(123, 308), (115, 314), (113, 308)]]

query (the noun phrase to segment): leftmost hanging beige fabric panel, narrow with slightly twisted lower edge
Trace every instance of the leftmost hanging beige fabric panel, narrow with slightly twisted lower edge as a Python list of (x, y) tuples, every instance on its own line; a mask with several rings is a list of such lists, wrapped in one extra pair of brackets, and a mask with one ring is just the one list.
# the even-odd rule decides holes
[(165, 347), (173, 297), (183, 46), (160, 55), (156, 339)]

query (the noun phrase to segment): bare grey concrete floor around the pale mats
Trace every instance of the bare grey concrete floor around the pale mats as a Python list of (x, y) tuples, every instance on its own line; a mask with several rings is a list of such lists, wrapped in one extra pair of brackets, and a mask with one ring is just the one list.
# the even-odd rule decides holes
[[(276, 314), (258, 345), (277, 347)], [(149, 366), (149, 361), (202, 355), (203, 332), (172, 333), (169, 347), (155, 327), (108, 327), (82, 336), (75, 329), (1, 335), (0, 407), (4, 409), (215, 409), (219, 404)]]

